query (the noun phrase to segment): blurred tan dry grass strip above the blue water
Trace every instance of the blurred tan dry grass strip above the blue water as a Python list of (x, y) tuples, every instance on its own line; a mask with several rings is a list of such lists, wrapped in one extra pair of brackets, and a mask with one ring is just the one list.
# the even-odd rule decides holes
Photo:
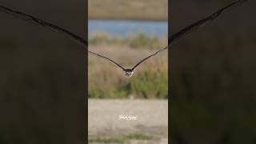
[(168, 0), (89, 0), (90, 19), (166, 20)]

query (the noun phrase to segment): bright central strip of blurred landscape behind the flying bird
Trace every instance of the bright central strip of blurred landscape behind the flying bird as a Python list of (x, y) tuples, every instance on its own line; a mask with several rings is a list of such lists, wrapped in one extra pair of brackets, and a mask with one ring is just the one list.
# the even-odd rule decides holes
[[(88, 5), (89, 50), (130, 68), (167, 45), (168, 0), (89, 0)], [(88, 55), (89, 143), (168, 142), (167, 53), (144, 62), (131, 78)], [(120, 114), (138, 120), (120, 120)]]

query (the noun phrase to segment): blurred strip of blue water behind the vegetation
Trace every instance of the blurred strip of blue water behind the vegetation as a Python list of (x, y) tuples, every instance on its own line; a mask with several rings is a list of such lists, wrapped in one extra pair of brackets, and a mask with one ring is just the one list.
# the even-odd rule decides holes
[(126, 38), (130, 34), (138, 33), (163, 38), (168, 34), (168, 22), (89, 20), (88, 32), (89, 37), (94, 32), (106, 32), (113, 38)]

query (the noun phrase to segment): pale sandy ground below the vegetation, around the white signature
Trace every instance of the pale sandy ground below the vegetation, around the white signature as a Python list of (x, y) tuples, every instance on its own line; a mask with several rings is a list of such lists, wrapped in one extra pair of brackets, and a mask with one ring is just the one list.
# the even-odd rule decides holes
[[(166, 100), (89, 99), (88, 104), (89, 137), (116, 137), (140, 133), (158, 136), (161, 141), (157, 143), (168, 143), (168, 102)], [(119, 115), (131, 115), (137, 117), (137, 120), (120, 119)]]

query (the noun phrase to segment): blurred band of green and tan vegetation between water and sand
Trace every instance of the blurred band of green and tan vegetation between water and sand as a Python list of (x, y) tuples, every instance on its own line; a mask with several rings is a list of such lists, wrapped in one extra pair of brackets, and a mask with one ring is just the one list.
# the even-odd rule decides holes
[[(144, 55), (166, 46), (167, 42), (165, 39), (150, 38), (144, 34), (134, 34), (129, 38), (110, 38), (107, 34), (94, 34), (89, 43), (90, 50), (105, 54), (123, 66), (130, 67)], [(131, 78), (126, 78), (122, 70), (110, 62), (89, 56), (89, 98), (167, 98), (167, 57), (162, 52), (144, 62)]]

